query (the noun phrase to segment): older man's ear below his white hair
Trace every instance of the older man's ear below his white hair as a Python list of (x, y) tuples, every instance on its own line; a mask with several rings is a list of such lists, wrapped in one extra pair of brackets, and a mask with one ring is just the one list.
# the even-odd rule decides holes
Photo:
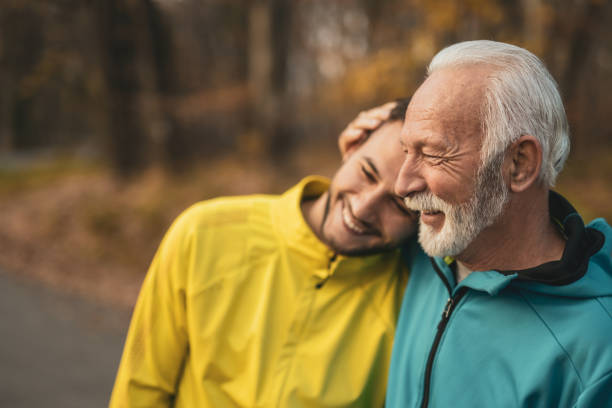
[(538, 179), (542, 167), (542, 146), (531, 135), (523, 135), (512, 143), (506, 157), (510, 190), (520, 193)]

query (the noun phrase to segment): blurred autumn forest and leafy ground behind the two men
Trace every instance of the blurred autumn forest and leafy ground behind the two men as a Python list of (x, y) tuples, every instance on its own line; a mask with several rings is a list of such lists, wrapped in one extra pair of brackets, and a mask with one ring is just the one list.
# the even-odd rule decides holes
[(0, 267), (130, 307), (183, 209), (331, 176), (359, 111), (471, 39), (545, 61), (556, 189), (610, 221), (611, 23), (606, 0), (3, 0)]

